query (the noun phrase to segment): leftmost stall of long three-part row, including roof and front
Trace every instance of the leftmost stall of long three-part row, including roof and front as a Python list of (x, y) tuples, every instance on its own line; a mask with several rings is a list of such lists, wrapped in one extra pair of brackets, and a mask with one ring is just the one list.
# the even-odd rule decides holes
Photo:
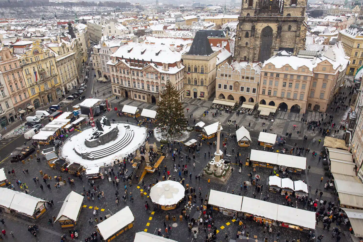
[(209, 192), (208, 205), (211, 205), (213, 210), (219, 211), (224, 215), (237, 217), (237, 214), (242, 211), (242, 199), (242, 196), (236, 194), (211, 189)]

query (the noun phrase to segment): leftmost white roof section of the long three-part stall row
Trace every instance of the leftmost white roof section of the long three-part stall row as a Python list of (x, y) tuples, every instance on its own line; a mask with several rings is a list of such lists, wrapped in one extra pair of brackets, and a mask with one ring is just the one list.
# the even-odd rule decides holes
[(230, 209), (236, 212), (241, 212), (242, 196), (236, 194), (220, 192), (211, 189), (209, 192), (208, 204), (219, 207)]

